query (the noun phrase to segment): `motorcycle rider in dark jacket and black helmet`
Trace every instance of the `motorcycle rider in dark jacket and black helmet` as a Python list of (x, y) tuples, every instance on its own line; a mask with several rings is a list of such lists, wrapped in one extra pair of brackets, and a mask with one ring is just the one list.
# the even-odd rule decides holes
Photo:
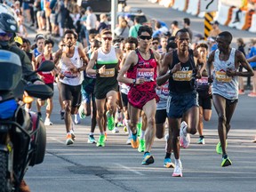
[[(28, 74), (33, 72), (33, 69), (26, 52), (20, 50), (20, 48), (14, 43), (14, 37), (16, 36), (17, 32), (18, 23), (14, 17), (5, 12), (0, 13), (0, 51), (6, 50), (19, 55), (22, 65), (22, 77), (25, 80), (32, 82), (33, 84), (44, 84), (36, 74), (33, 76), (28, 76)], [(24, 180), (22, 180), (20, 183), (20, 191), (30, 191)]]

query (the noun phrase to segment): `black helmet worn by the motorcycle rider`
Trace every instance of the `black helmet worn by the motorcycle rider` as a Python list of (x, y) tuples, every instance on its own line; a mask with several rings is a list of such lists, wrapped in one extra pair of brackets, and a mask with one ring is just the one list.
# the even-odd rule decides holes
[(0, 13), (0, 29), (6, 33), (17, 33), (18, 24), (17, 21), (12, 17), (12, 15), (7, 13)]

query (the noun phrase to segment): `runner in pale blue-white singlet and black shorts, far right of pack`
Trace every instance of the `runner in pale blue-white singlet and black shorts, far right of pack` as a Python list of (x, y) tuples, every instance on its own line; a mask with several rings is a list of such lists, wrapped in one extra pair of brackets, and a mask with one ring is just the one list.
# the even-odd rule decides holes
[[(211, 52), (207, 61), (209, 81), (212, 82), (212, 100), (219, 116), (218, 133), (220, 142), (216, 152), (222, 154), (221, 166), (231, 165), (227, 154), (227, 138), (230, 131), (230, 121), (238, 101), (238, 76), (253, 76), (252, 67), (244, 58), (244, 54), (231, 48), (233, 36), (228, 31), (223, 31), (217, 36), (218, 49)], [(239, 65), (246, 71), (238, 72)], [(213, 69), (213, 72), (212, 72)]]

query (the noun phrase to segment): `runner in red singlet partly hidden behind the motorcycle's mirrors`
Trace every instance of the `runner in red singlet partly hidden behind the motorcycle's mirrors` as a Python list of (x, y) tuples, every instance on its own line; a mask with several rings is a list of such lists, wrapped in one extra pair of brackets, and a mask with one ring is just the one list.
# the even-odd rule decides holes
[[(36, 57), (36, 68), (38, 68), (44, 60), (53, 60), (52, 58), (53, 45), (54, 43), (51, 39), (46, 39), (44, 41), (44, 52)], [(53, 91), (54, 72), (53, 71), (39, 72), (38, 75), (41, 76), (42, 80), (44, 81), (44, 84), (47, 84), (49, 87), (51, 87)], [(46, 117), (44, 120), (44, 125), (52, 125), (52, 122), (50, 120), (50, 117), (52, 115), (52, 108), (53, 108), (52, 98), (47, 99), (46, 102), (47, 102), (47, 106), (46, 106)], [(42, 116), (41, 107), (44, 106), (44, 103), (45, 103), (45, 100), (40, 100), (40, 99), (36, 100), (37, 114), (39, 116)]]

